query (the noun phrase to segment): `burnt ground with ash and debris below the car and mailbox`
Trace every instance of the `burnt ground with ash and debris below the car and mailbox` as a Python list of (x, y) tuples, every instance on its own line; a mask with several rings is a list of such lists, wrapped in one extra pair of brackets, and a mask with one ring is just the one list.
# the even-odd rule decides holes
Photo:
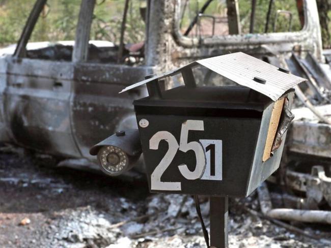
[[(206, 247), (191, 197), (147, 189), (0, 147), (0, 247)], [(245, 208), (259, 211), (256, 194), (231, 201), (230, 247), (331, 247), (330, 227), (293, 224), (308, 238)], [(207, 198), (201, 209), (208, 227)]]

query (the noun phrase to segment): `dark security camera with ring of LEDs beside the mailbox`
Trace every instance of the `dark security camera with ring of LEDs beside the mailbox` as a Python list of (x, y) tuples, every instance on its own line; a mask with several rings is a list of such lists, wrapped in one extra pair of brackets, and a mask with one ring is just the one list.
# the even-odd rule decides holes
[(100, 169), (110, 176), (118, 176), (130, 170), (141, 153), (137, 129), (118, 131), (90, 149), (90, 154), (97, 156)]

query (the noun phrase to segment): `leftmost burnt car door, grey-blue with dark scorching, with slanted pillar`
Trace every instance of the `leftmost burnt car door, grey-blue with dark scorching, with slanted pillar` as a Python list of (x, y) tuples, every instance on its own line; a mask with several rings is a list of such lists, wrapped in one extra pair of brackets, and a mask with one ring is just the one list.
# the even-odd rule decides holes
[(80, 157), (71, 130), (73, 63), (25, 57), (47, 0), (37, 0), (12, 57), (7, 58), (4, 112), (17, 144), (65, 157)]

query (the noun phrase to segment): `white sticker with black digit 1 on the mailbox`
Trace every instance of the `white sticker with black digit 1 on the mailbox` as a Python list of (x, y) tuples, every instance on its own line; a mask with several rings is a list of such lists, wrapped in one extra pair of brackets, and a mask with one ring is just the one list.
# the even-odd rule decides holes
[(222, 180), (222, 140), (199, 140), (206, 154), (202, 180)]

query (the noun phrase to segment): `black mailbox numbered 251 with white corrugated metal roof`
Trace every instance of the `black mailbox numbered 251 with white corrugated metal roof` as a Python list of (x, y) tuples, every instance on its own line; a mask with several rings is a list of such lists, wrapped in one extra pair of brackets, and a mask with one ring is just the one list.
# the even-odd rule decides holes
[[(199, 66), (239, 85), (197, 86)], [(176, 74), (184, 85), (162, 91), (158, 81)], [(149, 92), (133, 104), (150, 191), (250, 195), (280, 165), (293, 86), (304, 80), (238, 52), (126, 87), (146, 84)]]

